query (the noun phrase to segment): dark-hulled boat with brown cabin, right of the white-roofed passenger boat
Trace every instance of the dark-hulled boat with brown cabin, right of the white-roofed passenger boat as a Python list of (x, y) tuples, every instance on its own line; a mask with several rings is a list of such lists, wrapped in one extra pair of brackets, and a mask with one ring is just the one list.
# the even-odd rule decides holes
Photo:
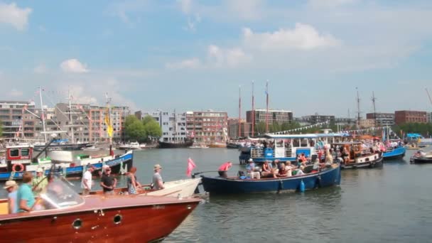
[(341, 161), (341, 169), (376, 168), (382, 166), (382, 153), (371, 153), (369, 150), (363, 150), (362, 143), (360, 142), (334, 143), (332, 147), (335, 148), (335, 151), (342, 148), (348, 151), (347, 161), (338, 156), (338, 159)]

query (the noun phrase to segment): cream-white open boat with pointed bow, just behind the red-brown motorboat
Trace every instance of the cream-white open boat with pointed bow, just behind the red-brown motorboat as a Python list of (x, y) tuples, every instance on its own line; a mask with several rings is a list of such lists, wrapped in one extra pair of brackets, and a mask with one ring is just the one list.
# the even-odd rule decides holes
[[(139, 190), (139, 195), (158, 195), (165, 197), (190, 197), (195, 193), (195, 189), (201, 182), (201, 178), (185, 179), (185, 180), (173, 180), (163, 183), (165, 188), (161, 190), (151, 189), (151, 185), (142, 185), (143, 190)], [(127, 188), (116, 188), (114, 194), (124, 194), (127, 192)], [(94, 190), (90, 192), (90, 195), (101, 195), (102, 190)]]

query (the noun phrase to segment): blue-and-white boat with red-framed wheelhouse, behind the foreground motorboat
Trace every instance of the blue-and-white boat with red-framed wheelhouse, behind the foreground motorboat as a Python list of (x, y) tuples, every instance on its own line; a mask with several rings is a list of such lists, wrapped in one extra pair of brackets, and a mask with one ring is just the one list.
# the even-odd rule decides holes
[[(43, 168), (48, 174), (52, 161), (62, 161), (56, 168), (66, 177), (81, 177), (88, 164), (95, 166), (93, 172), (97, 175), (106, 164), (112, 168), (112, 173), (122, 173), (133, 165), (133, 153), (128, 151), (121, 156), (102, 156), (92, 158), (89, 155), (73, 156), (70, 151), (51, 151), (50, 158), (33, 158), (33, 146), (21, 144), (6, 148), (6, 163), (0, 165), (0, 180), (21, 180), (26, 171), (36, 174), (38, 168)], [(66, 161), (66, 162), (65, 162)]]

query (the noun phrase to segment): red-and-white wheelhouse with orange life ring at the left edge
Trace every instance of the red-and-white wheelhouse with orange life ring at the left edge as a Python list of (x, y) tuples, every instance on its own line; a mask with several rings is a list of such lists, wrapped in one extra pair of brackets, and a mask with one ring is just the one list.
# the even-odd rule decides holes
[(31, 165), (33, 146), (31, 144), (19, 144), (6, 147), (6, 164), (0, 165), (0, 172), (26, 171), (26, 166)]

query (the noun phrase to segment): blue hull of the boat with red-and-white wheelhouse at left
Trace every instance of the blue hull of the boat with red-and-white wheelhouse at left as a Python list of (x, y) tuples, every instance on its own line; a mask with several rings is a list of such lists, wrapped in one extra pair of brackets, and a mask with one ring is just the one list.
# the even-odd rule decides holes
[[(110, 161), (105, 161), (105, 164), (109, 166), (112, 170), (113, 174), (117, 174), (121, 171), (121, 166), (123, 168), (131, 168), (133, 165), (133, 153), (126, 153), (122, 156), (119, 156), (119, 158), (114, 158)], [(94, 172), (95, 175), (97, 175), (97, 171), (102, 169), (103, 163), (93, 163), (92, 166), (95, 166), (96, 171)], [(85, 166), (74, 166), (74, 167), (68, 167), (66, 168), (66, 177), (80, 177), (82, 176), (82, 172), (85, 170)], [(30, 171), (33, 174), (36, 174), (36, 171)], [(63, 170), (60, 169), (59, 172), (63, 172)], [(23, 177), (24, 172), (16, 172), (13, 175), (12, 180), (21, 180)], [(48, 175), (49, 170), (45, 171), (45, 175)], [(11, 177), (11, 172), (3, 172), (0, 173), (0, 180), (9, 180)]]

